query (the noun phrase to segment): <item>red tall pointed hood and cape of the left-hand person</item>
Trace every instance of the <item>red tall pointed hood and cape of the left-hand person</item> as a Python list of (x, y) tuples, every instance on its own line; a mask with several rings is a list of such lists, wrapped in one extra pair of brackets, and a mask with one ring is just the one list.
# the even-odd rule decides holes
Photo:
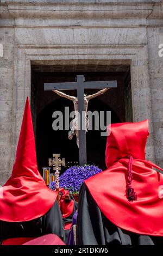
[(1, 188), (0, 220), (30, 221), (52, 208), (57, 192), (49, 190), (37, 170), (35, 138), (29, 99), (24, 109), (15, 164), (9, 180)]

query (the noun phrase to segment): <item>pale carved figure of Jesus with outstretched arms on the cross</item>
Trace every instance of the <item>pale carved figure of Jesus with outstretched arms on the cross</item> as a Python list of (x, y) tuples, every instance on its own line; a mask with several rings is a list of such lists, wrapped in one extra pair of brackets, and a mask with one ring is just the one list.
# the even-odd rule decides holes
[[(91, 100), (91, 99), (93, 99), (93, 98), (95, 98), (95, 97), (97, 97), (99, 95), (102, 95), (107, 90), (109, 90), (109, 88), (105, 88), (105, 89), (99, 90), (99, 92), (94, 93), (92, 95), (84, 94), (85, 132), (87, 132), (87, 128), (88, 128), (88, 125), (89, 125), (89, 120), (87, 119), (87, 116), (86, 116), (87, 105), (89, 103), (89, 100)], [(75, 111), (76, 117), (72, 120), (72, 128), (71, 128), (71, 131), (68, 132), (68, 139), (72, 139), (73, 136), (76, 135), (76, 137), (77, 137), (77, 145), (78, 145), (78, 148), (79, 148), (78, 97), (67, 95), (65, 93), (60, 92), (59, 90), (53, 90), (53, 92), (57, 93), (61, 97), (65, 97), (66, 99), (73, 101), (74, 111)]]

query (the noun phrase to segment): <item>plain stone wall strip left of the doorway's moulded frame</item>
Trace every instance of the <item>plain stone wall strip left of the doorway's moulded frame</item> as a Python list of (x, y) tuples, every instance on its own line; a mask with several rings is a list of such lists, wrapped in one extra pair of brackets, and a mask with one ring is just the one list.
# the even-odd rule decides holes
[(0, 44), (3, 44), (3, 57), (0, 58), (0, 184), (8, 178), (11, 169), (14, 35), (14, 28), (0, 29)]

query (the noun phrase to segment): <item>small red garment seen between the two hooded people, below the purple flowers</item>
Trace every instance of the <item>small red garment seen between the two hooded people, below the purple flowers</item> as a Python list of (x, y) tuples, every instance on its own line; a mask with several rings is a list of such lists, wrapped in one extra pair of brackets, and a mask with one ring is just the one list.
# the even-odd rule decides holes
[(62, 192), (62, 196), (60, 199), (60, 210), (62, 213), (62, 218), (67, 218), (68, 216), (70, 216), (73, 212), (73, 208), (74, 208), (74, 201), (73, 200), (65, 200), (65, 196), (69, 196), (69, 191), (68, 190), (64, 190), (64, 188), (60, 189), (60, 192)]

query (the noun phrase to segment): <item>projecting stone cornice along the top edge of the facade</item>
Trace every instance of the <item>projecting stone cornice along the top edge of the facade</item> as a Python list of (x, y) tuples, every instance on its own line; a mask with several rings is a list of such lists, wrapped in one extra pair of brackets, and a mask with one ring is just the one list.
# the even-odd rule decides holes
[[(93, 3), (93, 4), (92, 4)], [(111, 19), (163, 17), (162, 1), (1, 1), (3, 19)]]

